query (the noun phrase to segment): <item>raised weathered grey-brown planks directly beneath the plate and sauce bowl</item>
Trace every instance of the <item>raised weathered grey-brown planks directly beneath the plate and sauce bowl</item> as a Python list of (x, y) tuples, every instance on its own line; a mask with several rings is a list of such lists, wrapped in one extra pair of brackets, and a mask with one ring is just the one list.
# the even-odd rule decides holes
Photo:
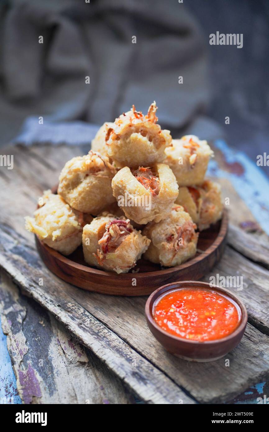
[[(166, 353), (146, 326), (146, 298), (85, 292), (60, 281), (44, 267), (35, 250), (33, 236), (24, 231), (22, 216), (32, 213), (43, 189), (57, 183), (64, 162), (81, 153), (79, 148), (63, 146), (14, 148), (14, 169), (6, 170), (0, 180), (4, 187), (1, 199), (6, 203), (0, 215), (0, 265), (15, 283), (51, 311), (147, 403), (223, 402), (268, 377), (269, 271), (268, 245), (263, 234), (250, 235), (253, 250), (260, 250), (257, 241), (263, 239), (265, 253), (260, 255), (238, 246), (231, 235), (231, 246), (218, 266), (206, 276), (206, 280), (217, 274), (243, 276), (244, 279), (243, 290), (237, 295), (246, 302), (251, 324), (241, 344), (228, 354), (228, 367), (225, 359), (196, 364)], [(224, 196), (230, 198), (228, 209), (234, 229), (238, 228), (238, 221), (254, 224), (253, 215), (232, 185), (225, 181), (224, 187), (228, 190)], [(247, 239), (244, 237), (245, 246)], [(38, 285), (40, 278), (44, 286)]]

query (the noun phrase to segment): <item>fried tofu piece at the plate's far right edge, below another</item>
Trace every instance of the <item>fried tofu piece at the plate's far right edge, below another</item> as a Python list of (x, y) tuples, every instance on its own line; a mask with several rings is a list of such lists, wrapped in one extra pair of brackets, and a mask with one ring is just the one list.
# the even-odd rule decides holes
[(201, 186), (180, 187), (176, 203), (184, 207), (199, 228), (209, 228), (222, 217), (221, 187), (214, 181), (205, 180)]

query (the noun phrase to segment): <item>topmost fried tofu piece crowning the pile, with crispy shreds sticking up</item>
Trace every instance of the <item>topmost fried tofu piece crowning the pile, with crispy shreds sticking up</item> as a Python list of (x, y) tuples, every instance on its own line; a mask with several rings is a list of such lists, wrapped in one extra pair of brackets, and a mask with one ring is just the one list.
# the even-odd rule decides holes
[(133, 108), (120, 115), (108, 129), (108, 156), (120, 168), (151, 166), (165, 159), (165, 147), (171, 144), (169, 130), (156, 124), (157, 107), (153, 102), (145, 116)]

